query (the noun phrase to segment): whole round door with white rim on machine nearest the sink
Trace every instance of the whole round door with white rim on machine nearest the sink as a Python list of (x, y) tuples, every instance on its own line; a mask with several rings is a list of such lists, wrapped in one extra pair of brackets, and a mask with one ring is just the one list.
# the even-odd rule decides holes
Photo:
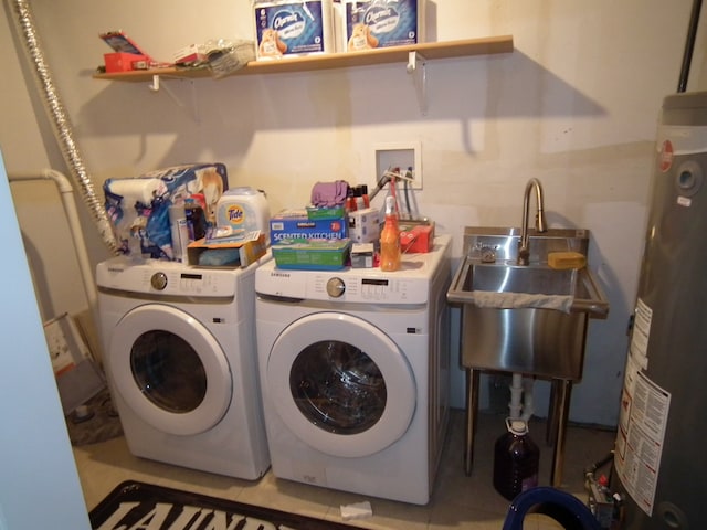
[(416, 385), (398, 346), (347, 314), (288, 326), (267, 362), (267, 390), (287, 427), (334, 456), (367, 456), (397, 442), (415, 410)]

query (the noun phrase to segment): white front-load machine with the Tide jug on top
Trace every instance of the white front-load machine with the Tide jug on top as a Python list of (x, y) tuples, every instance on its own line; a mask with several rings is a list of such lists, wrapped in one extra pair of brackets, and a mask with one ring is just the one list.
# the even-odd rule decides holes
[(255, 271), (98, 264), (108, 386), (130, 452), (256, 479), (270, 467), (257, 381)]

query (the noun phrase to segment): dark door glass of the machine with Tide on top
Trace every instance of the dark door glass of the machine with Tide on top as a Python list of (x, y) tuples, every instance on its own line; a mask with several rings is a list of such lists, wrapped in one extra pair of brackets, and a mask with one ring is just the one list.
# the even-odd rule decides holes
[(140, 392), (166, 411), (191, 412), (207, 394), (207, 372), (199, 356), (170, 331), (140, 335), (130, 351), (130, 367)]

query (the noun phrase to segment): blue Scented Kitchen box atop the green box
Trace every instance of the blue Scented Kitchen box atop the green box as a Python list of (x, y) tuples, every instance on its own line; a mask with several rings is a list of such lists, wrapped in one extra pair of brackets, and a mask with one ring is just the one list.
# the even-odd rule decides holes
[(307, 210), (283, 210), (270, 219), (270, 241), (342, 240), (348, 237), (348, 220), (344, 218), (309, 219)]

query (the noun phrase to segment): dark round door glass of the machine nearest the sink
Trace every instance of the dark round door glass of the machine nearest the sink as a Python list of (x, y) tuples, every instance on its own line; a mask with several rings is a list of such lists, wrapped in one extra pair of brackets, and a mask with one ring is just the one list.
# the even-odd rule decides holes
[(289, 389), (299, 411), (329, 433), (362, 433), (386, 409), (386, 381), (378, 365), (339, 340), (306, 347), (293, 363)]

